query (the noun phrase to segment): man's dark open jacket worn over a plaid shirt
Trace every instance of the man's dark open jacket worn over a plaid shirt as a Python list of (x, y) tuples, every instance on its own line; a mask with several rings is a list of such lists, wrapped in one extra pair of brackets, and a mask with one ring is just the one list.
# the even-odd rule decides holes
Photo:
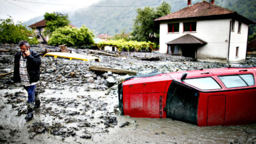
[[(40, 77), (40, 55), (34, 50), (30, 50), (30, 55), (27, 59), (27, 73), (29, 74), (29, 83), (37, 82)], [(14, 57), (14, 82), (20, 82), (21, 77), (19, 76), (19, 60), (21, 59), (21, 51), (17, 52)]]

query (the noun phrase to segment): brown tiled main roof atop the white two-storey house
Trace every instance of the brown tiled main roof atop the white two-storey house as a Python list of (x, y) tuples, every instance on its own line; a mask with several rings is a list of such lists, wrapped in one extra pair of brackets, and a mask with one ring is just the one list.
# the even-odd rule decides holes
[(187, 6), (184, 9), (180, 9), (180, 11), (173, 12), (171, 14), (167, 14), (159, 19), (155, 19), (155, 21), (166, 21), (166, 20), (177, 20), (177, 19), (186, 19), (191, 17), (210, 17), (210, 16), (233, 16), (237, 19), (244, 20), (246, 23), (255, 23), (250, 19), (247, 19), (243, 16), (240, 16), (235, 11), (231, 11), (230, 9), (226, 9), (224, 7), (217, 6), (215, 4), (210, 4), (207, 1), (197, 2), (193, 6)]

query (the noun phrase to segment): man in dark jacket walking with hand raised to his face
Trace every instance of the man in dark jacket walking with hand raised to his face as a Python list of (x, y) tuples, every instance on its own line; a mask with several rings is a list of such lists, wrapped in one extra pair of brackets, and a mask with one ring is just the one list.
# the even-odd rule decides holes
[[(36, 84), (40, 77), (40, 55), (34, 50), (29, 49), (27, 41), (20, 41), (20, 52), (14, 57), (14, 82), (21, 82), (27, 90), (27, 115), (26, 120), (33, 118), (33, 106), (38, 108), (40, 100), (35, 96)], [(35, 104), (34, 104), (35, 103)]]

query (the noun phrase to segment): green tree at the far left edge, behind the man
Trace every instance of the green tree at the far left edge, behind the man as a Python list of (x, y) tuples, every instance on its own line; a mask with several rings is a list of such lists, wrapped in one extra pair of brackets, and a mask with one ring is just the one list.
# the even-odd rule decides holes
[(29, 44), (38, 44), (36, 37), (33, 36), (32, 30), (22, 26), (21, 22), (12, 20), (10, 16), (7, 19), (0, 19), (0, 43), (1, 44), (18, 44), (19, 41), (25, 40)]

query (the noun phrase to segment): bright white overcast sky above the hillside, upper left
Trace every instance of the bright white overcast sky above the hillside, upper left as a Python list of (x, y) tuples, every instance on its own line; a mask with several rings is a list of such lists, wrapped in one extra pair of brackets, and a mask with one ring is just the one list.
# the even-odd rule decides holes
[[(69, 12), (101, 0), (0, 0), (0, 19), (25, 22), (46, 12)], [(8, 16), (9, 15), (9, 16)]]

